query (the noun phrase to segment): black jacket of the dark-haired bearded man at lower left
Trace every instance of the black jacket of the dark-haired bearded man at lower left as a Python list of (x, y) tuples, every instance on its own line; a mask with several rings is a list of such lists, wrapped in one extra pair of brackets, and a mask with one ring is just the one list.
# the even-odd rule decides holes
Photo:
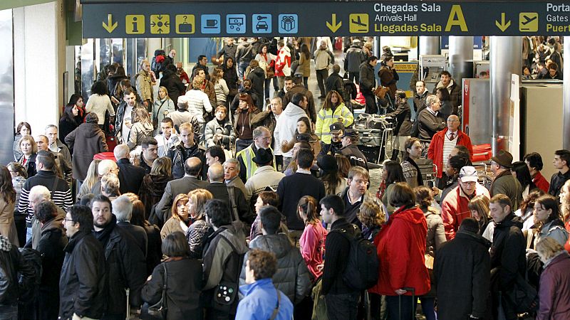
[[(105, 272), (107, 283), (105, 299), (106, 316), (127, 315), (127, 296), (125, 289), (130, 289), (129, 302), (131, 306), (140, 306), (140, 289), (145, 284), (145, 256), (133, 237), (123, 228), (117, 227), (117, 218), (111, 216), (110, 223), (95, 237), (104, 242)], [(108, 239), (105, 241), (105, 238)]]

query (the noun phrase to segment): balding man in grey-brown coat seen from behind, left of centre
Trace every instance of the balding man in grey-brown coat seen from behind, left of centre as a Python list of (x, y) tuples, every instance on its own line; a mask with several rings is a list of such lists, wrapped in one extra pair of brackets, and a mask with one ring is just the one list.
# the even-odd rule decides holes
[[(172, 181), (168, 181), (165, 193), (162, 195), (160, 202), (156, 205), (156, 213), (159, 220), (165, 223), (170, 218), (170, 207), (172, 199), (180, 193), (189, 193), (197, 188), (206, 188), (207, 181), (198, 179), (200, 171), (202, 171), (202, 160), (192, 156), (184, 162), (184, 176)], [(164, 219), (164, 220), (162, 220)]]

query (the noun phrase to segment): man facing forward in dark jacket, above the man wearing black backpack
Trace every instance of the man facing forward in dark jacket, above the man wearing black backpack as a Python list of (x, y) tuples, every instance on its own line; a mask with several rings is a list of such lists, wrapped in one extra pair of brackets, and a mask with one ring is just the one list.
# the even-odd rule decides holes
[(348, 171), (346, 183), (348, 186), (341, 193), (341, 198), (344, 202), (343, 216), (348, 223), (358, 225), (358, 227), (362, 228), (361, 221), (356, 217), (361, 208), (361, 204), (364, 202), (372, 202), (380, 207), (382, 207), (382, 205), (380, 201), (378, 201), (378, 198), (368, 191), (368, 186), (370, 185), (368, 170), (361, 166), (353, 166)]

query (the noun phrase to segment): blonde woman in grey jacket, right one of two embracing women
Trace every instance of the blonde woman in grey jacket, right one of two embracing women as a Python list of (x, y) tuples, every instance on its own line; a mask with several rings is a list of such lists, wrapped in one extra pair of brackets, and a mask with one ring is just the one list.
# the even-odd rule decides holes
[(204, 217), (204, 205), (214, 198), (212, 193), (205, 189), (195, 189), (188, 193), (188, 213), (192, 224), (186, 232), (186, 240), (190, 246), (190, 256), (202, 258), (204, 235), (208, 231), (208, 224)]

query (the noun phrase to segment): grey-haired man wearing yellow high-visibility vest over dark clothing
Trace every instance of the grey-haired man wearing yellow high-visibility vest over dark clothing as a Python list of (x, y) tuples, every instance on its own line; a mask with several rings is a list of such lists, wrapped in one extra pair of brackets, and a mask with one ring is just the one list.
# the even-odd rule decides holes
[[(266, 127), (257, 127), (253, 132), (254, 142), (246, 149), (239, 151), (236, 154), (236, 159), (239, 161), (239, 178), (245, 183), (247, 179), (251, 178), (257, 170), (257, 164), (254, 162), (254, 156), (257, 156), (257, 150), (269, 149), (271, 154), (271, 132)], [(273, 159), (273, 168), (275, 169), (275, 158)]]

